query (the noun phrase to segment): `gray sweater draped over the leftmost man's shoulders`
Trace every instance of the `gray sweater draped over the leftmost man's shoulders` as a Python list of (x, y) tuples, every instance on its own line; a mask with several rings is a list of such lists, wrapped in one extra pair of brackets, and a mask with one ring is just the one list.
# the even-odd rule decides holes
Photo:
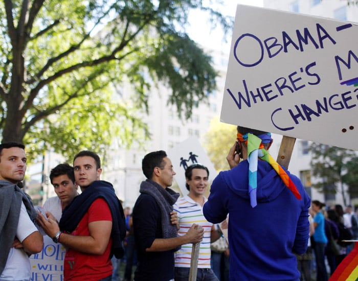
[(30, 197), (16, 184), (0, 180), (0, 274), (3, 272), (10, 248), (16, 236), (21, 201), (32, 221), (37, 216)]

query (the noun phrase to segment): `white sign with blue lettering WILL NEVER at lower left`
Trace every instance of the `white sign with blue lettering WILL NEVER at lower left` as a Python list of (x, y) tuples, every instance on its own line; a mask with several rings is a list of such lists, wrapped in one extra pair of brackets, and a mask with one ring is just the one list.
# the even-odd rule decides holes
[(31, 281), (62, 281), (63, 260), (66, 250), (61, 244), (43, 237), (42, 251), (30, 256)]

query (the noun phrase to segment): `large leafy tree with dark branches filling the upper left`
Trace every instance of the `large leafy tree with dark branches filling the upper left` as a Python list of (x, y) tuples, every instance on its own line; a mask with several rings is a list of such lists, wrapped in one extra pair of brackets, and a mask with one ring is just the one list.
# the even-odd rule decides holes
[[(188, 118), (215, 90), (212, 58), (186, 33), (201, 9), (224, 31), (232, 18), (199, 0), (3, 0), (0, 2), (0, 131), (33, 156), (102, 152), (148, 136), (138, 111), (155, 83)], [(130, 85), (124, 87), (123, 85)], [(131, 98), (124, 99), (124, 97)], [(127, 101), (127, 102), (125, 102)]]

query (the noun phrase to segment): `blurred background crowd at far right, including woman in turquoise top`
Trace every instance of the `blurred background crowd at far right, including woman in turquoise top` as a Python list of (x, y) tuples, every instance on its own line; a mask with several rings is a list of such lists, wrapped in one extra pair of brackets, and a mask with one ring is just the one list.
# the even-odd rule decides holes
[(312, 201), (309, 219), (311, 239), (306, 253), (298, 256), (301, 280), (311, 280), (313, 271), (316, 271), (317, 281), (328, 280), (354, 246), (345, 241), (358, 239), (357, 217), (351, 205), (344, 212), (340, 204), (326, 206), (318, 200)]

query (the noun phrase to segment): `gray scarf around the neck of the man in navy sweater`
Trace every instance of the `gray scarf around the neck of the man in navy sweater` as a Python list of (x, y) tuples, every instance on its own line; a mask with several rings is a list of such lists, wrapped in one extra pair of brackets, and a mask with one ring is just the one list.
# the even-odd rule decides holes
[(142, 181), (139, 192), (153, 196), (159, 205), (162, 215), (163, 238), (177, 237), (176, 226), (170, 222), (170, 212), (172, 212), (173, 204), (180, 194), (169, 188), (164, 189), (160, 184), (150, 179)]

